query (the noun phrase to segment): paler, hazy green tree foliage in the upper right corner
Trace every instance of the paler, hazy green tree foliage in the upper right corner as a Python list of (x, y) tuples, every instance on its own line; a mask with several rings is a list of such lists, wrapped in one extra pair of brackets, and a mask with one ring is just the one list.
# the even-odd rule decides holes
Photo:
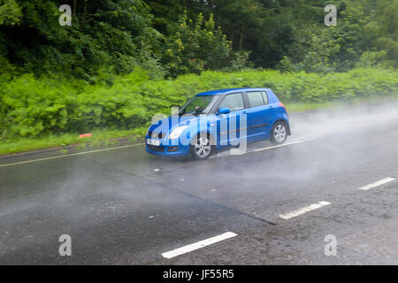
[(397, 66), (397, 1), (346, 1), (341, 2), (338, 11), (336, 27), (317, 23), (295, 29), (294, 42), (287, 58), (279, 61), (279, 70), (287, 68), (287, 59), (291, 70), (308, 73), (345, 72), (355, 66)]

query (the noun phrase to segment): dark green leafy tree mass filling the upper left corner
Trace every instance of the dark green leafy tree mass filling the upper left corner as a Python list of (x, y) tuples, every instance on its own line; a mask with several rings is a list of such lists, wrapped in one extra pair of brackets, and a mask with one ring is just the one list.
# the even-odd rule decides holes
[(58, 1), (2, 2), (0, 55), (22, 73), (59, 73), (93, 83), (103, 69), (131, 73), (143, 65), (164, 72), (157, 64), (163, 35), (151, 27), (142, 0), (65, 1), (75, 12), (71, 27), (59, 25)]

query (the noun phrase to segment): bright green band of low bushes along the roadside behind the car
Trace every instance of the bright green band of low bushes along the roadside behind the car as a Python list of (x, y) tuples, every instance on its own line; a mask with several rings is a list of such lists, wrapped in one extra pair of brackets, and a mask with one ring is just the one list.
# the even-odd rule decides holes
[(348, 73), (203, 72), (176, 80), (150, 80), (142, 69), (117, 77), (112, 86), (84, 80), (36, 79), (25, 74), (0, 82), (0, 134), (37, 136), (94, 127), (147, 126), (156, 113), (170, 113), (189, 96), (214, 88), (272, 88), (284, 103), (318, 103), (398, 91), (398, 72), (355, 69)]

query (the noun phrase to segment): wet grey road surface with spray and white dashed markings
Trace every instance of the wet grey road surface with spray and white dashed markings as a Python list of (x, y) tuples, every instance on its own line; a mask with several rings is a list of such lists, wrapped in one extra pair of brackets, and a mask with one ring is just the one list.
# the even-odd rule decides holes
[(398, 264), (398, 105), (290, 119), (284, 146), (200, 162), (142, 145), (2, 157), (0, 264)]

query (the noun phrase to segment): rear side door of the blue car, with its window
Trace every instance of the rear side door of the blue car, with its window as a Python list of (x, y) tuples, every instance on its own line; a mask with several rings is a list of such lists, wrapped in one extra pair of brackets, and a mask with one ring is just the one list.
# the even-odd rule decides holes
[(264, 91), (246, 93), (249, 103), (247, 112), (249, 142), (264, 140), (269, 137), (272, 123), (272, 107), (268, 104), (268, 96)]

